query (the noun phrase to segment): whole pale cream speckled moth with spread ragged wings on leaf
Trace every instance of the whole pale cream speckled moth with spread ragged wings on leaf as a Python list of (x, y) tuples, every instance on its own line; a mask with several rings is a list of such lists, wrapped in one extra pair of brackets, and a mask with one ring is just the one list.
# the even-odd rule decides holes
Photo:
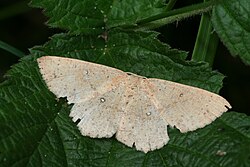
[(44, 56), (37, 62), (48, 89), (74, 103), (69, 116), (82, 135), (115, 135), (145, 153), (168, 143), (168, 126), (193, 131), (231, 108), (215, 93), (176, 82), (71, 58)]

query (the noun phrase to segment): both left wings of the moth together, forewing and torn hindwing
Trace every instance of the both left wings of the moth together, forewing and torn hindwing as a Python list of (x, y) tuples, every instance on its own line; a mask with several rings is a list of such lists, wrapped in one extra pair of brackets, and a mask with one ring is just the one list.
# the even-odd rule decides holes
[(81, 133), (90, 137), (111, 137), (121, 118), (124, 84), (120, 70), (55, 56), (37, 60), (45, 83), (58, 98), (75, 103), (70, 117)]

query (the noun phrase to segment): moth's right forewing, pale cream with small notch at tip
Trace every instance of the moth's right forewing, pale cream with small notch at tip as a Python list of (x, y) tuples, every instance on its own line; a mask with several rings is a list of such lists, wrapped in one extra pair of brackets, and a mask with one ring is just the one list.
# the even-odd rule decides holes
[(161, 115), (181, 132), (202, 128), (231, 108), (223, 97), (196, 87), (149, 79)]

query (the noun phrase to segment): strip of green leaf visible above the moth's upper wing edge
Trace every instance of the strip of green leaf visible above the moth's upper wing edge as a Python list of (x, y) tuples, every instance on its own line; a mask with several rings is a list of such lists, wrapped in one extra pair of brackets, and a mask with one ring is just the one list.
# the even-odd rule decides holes
[(212, 92), (222, 87), (220, 73), (204, 62), (185, 61), (186, 52), (170, 49), (156, 39), (155, 32), (110, 31), (108, 42), (94, 36), (56, 35), (44, 47), (33, 50), (40, 55), (77, 57), (146, 77), (172, 80)]

